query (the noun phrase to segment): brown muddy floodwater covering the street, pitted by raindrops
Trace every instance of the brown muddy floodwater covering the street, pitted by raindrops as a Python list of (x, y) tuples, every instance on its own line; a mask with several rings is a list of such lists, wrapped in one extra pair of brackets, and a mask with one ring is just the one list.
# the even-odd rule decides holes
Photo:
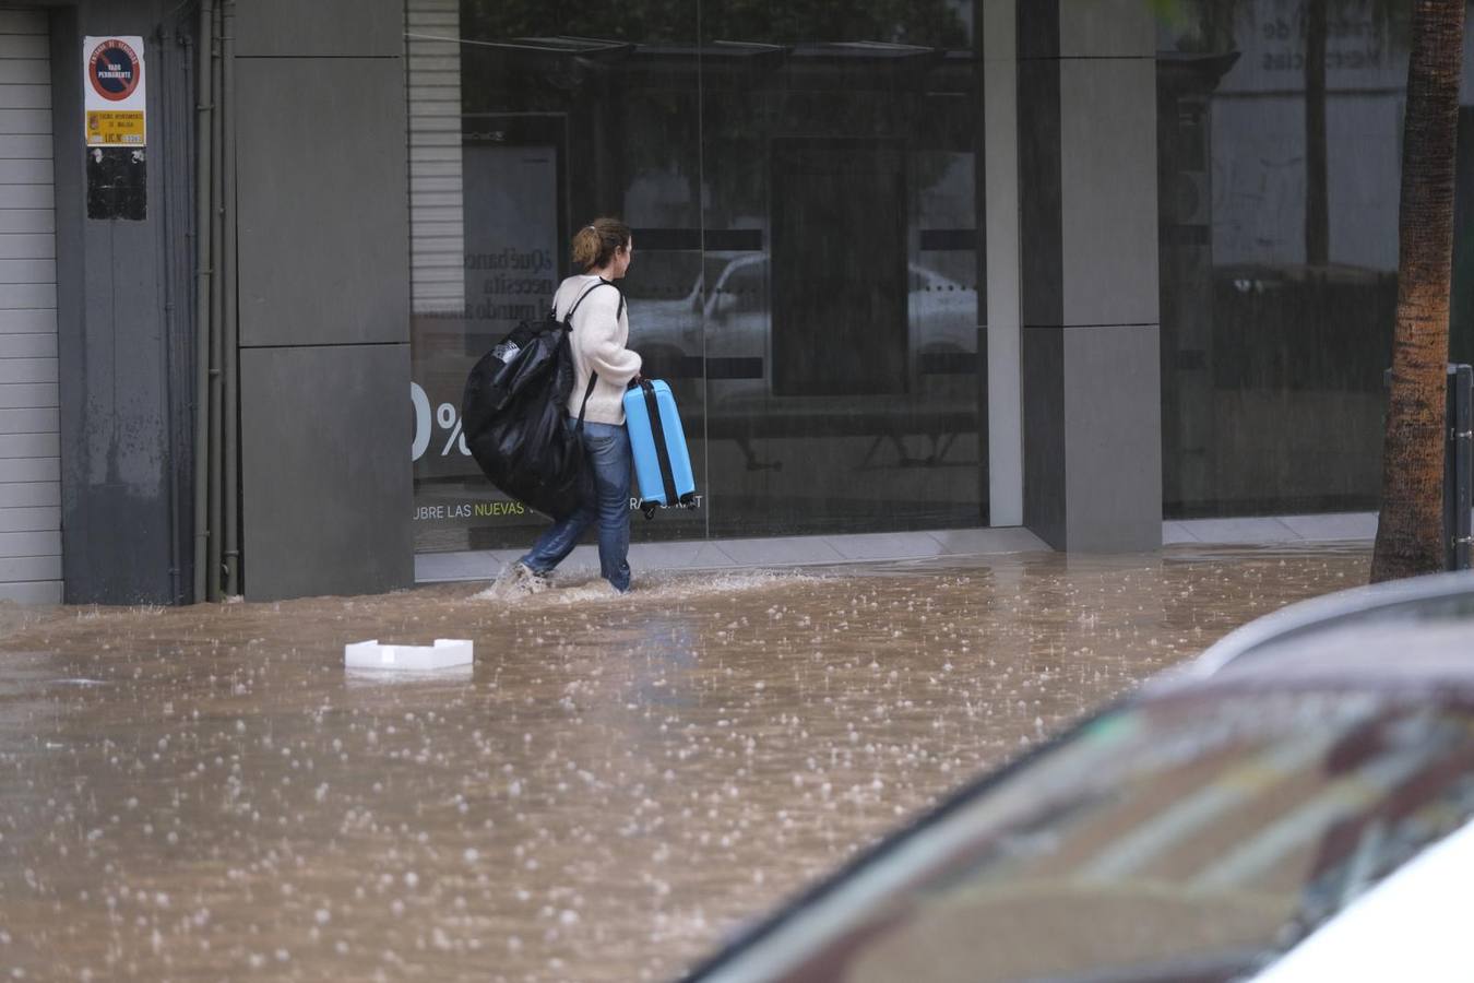
[[(1361, 548), (0, 607), (0, 979), (662, 980)], [(472, 638), (463, 674), (345, 643)]]

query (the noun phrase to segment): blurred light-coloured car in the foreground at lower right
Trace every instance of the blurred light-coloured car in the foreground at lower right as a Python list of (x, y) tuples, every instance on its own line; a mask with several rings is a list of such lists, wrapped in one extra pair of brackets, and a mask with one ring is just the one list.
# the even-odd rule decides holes
[(1347, 591), (961, 790), (688, 980), (1474, 979), (1471, 816), (1474, 575)]

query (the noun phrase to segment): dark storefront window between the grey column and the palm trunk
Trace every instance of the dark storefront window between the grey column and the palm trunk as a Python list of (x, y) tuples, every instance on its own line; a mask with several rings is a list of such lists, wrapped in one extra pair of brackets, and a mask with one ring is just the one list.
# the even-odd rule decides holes
[[(1162, 25), (1167, 517), (1377, 507), (1409, 10), (1408, 0), (1191, 0)], [(1450, 345), (1464, 361), (1474, 355), (1459, 299), (1474, 284), (1470, 172)]]

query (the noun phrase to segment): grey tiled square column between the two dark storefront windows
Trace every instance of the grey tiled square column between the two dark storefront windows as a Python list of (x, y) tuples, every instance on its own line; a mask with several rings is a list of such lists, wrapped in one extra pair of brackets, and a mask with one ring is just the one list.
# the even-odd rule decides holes
[(1162, 545), (1156, 25), (1144, 0), (1019, 3), (1024, 525)]

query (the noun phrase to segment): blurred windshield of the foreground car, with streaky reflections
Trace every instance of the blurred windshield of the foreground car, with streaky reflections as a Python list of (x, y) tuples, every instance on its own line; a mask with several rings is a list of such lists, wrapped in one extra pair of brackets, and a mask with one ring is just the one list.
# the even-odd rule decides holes
[(1471, 814), (1468, 703), (1179, 694), (881, 850), (765, 936), (762, 976), (710, 979), (1247, 979)]

